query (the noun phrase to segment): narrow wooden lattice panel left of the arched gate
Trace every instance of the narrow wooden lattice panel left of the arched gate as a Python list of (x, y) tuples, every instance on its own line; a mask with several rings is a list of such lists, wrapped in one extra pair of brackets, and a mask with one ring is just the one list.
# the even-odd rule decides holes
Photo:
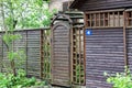
[(43, 77), (51, 79), (51, 30), (43, 31)]

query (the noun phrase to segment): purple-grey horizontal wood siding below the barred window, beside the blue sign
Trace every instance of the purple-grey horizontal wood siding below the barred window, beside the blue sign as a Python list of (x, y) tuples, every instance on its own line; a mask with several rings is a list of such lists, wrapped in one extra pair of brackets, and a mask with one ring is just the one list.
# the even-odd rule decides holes
[(120, 73), (123, 68), (123, 30), (92, 30), (92, 35), (86, 36), (87, 88), (111, 88), (103, 73)]

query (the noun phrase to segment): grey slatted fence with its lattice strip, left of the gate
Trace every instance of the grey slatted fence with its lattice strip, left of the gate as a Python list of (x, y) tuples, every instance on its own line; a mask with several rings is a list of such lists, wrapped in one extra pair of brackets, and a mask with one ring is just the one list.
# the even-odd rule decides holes
[[(0, 32), (0, 72), (7, 72), (9, 59), (7, 58), (7, 47), (2, 41)], [(20, 54), (23, 59), (16, 59), (21, 68), (25, 69), (28, 76), (38, 78), (50, 78), (50, 29), (32, 29), (14, 31), (14, 34), (20, 34), (22, 38), (13, 42), (13, 51), (23, 51)]]

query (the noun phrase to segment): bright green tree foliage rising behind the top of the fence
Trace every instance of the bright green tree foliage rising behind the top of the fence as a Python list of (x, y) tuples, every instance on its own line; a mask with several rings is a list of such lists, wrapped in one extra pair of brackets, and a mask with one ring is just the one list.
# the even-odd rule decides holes
[[(2, 23), (7, 30), (50, 26), (56, 10), (48, 10), (50, 0), (1, 0)], [(0, 7), (2, 9), (2, 7)], [(6, 30), (4, 29), (4, 30)]]

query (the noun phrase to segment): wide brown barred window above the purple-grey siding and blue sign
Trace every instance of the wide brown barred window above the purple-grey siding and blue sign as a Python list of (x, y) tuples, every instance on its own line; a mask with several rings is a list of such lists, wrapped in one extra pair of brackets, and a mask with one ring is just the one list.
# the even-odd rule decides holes
[(123, 22), (123, 11), (86, 13), (88, 28), (119, 28)]

